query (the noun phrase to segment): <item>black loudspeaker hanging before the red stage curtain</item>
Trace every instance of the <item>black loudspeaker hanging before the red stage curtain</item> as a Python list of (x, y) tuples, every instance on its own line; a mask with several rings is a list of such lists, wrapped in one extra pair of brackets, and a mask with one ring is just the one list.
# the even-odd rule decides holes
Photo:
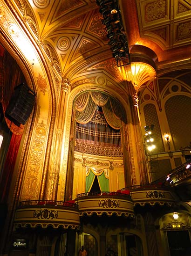
[(17, 126), (26, 124), (35, 102), (35, 93), (25, 83), (14, 88), (5, 116)]

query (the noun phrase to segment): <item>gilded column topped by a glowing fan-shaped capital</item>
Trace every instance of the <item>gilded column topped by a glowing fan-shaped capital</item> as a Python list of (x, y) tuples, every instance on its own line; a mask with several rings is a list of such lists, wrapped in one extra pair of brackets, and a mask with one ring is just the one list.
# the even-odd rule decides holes
[[(143, 54), (131, 54), (131, 63), (122, 67), (123, 79), (127, 83), (130, 100), (133, 131), (131, 132), (131, 149), (134, 166), (131, 170), (133, 185), (148, 183), (146, 159), (144, 154), (143, 136), (138, 109), (138, 90), (147, 81), (156, 76), (153, 60)], [(137, 168), (138, 167), (138, 168)], [(134, 168), (134, 169), (133, 169)], [(139, 174), (135, 169), (139, 169)]]

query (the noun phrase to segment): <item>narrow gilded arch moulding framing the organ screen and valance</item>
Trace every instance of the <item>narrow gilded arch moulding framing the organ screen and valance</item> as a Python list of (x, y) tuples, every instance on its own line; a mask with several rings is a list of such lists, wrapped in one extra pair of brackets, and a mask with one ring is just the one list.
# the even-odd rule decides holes
[[(111, 98), (117, 98), (117, 102), (119, 102), (119, 104), (121, 104), (121, 107), (123, 108), (123, 111), (125, 113), (125, 117), (127, 118), (127, 124), (129, 123), (129, 117), (131, 117), (131, 115), (127, 116), (127, 111), (128, 110), (128, 105), (126, 103), (126, 109), (124, 108), (124, 105), (119, 101), (118, 98), (122, 99), (122, 97), (120, 95), (117, 95), (117, 97), (114, 97), (111, 94), (108, 94), (105, 92), (105, 90), (100, 87), (100, 88), (92, 88), (92, 86), (88, 86), (87, 88), (78, 88), (79, 90), (76, 90), (77, 93), (73, 93), (72, 95), (70, 95), (70, 99), (69, 99), (69, 107), (70, 107), (70, 111), (68, 111), (68, 115), (70, 118), (67, 118), (67, 122), (70, 122), (72, 125), (70, 125), (70, 133), (68, 133), (68, 158), (67, 158), (67, 167), (66, 167), (66, 176), (65, 176), (65, 183), (67, 184), (66, 189), (64, 191), (64, 200), (71, 200), (72, 199), (72, 187), (73, 187), (73, 176), (74, 176), (74, 170), (73, 170), (73, 166), (74, 166), (74, 161), (73, 161), (73, 157), (74, 157), (74, 146), (75, 146), (75, 139), (74, 139), (74, 135), (75, 135), (75, 100), (77, 99), (77, 97), (79, 95), (82, 95), (83, 93), (87, 93), (90, 91), (97, 91), (97, 92), (101, 92), (102, 94), (106, 94)], [(83, 89), (83, 90), (82, 90)], [(124, 101), (123, 101), (124, 102)], [(69, 121), (68, 121), (69, 120)], [(121, 128), (121, 130), (124, 132), (126, 132), (127, 130), (127, 124), (123, 123), (123, 128)], [(122, 136), (123, 137), (123, 136)], [(125, 136), (124, 136), (125, 137)], [(124, 145), (124, 153), (123, 153), (123, 163), (124, 163), (124, 179), (125, 179), (125, 183), (127, 184), (127, 181), (131, 180), (130, 178), (130, 156), (128, 151), (125, 149), (127, 148), (127, 146), (125, 146), (128, 142), (125, 141), (125, 143), (122, 142), (122, 145)], [(66, 148), (66, 146), (65, 146)], [(126, 159), (126, 161), (124, 161), (124, 159)], [(66, 159), (65, 159), (66, 161)], [(125, 164), (127, 162), (127, 164)], [(126, 172), (126, 173), (125, 173)], [(129, 177), (128, 177), (129, 175)], [(62, 198), (63, 199), (63, 198)]]

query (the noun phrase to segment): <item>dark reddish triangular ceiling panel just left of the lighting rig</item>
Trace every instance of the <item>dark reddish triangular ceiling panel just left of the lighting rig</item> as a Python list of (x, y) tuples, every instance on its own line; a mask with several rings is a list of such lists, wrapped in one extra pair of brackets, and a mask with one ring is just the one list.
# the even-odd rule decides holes
[(92, 14), (92, 19), (87, 30), (101, 37), (104, 41), (108, 41), (105, 25), (102, 24), (102, 16), (98, 9)]

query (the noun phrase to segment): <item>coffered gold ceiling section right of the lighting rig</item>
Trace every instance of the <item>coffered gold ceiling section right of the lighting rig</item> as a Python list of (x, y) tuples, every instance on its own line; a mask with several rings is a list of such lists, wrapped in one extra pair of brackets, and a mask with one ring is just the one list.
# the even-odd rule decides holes
[(190, 44), (190, 0), (136, 0), (140, 36), (163, 50)]

